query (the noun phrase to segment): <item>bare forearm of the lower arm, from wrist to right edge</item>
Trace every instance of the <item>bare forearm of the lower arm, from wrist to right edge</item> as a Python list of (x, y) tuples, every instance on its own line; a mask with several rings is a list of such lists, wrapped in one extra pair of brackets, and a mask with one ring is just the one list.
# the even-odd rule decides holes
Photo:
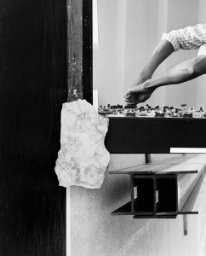
[(155, 79), (148, 80), (146, 87), (156, 89), (167, 84), (180, 84), (195, 79), (204, 73), (206, 73), (206, 56), (199, 55), (170, 67)]

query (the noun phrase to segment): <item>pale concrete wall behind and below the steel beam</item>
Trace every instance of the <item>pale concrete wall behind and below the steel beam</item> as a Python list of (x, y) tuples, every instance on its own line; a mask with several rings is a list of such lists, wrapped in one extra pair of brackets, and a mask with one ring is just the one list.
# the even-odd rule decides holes
[[(153, 154), (152, 161), (180, 154)], [(109, 170), (145, 163), (144, 154), (112, 154)], [(188, 216), (188, 236), (183, 217), (176, 219), (133, 219), (111, 216), (129, 201), (129, 177), (108, 175), (101, 189), (71, 188), (72, 256), (203, 256), (206, 194), (197, 200), (198, 216)], [(68, 255), (67, 255), (68, 256)]]

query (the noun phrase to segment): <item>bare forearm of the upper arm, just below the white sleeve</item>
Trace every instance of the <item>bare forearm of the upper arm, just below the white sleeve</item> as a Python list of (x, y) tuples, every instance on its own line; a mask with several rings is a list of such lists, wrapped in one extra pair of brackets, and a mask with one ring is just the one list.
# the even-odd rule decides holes
[(174, 51), (172, 44), (167, 40), (161, 40), (154, 49), (150, 61), (146, 64), (146, 67), (142, 70), (141, 74), (147, 75), (147, 79), (152, 78), (152, 74), (157, 67)]

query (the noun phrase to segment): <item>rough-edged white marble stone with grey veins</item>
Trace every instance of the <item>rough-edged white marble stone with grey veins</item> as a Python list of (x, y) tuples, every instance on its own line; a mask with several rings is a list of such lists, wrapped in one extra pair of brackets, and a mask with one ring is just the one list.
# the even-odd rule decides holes
[(104, 144), (108, 125), (109, 119), (85, 100), (62, 105), (60, 151), (54, 169), (60, 186), (101, 187), (110, 160)]

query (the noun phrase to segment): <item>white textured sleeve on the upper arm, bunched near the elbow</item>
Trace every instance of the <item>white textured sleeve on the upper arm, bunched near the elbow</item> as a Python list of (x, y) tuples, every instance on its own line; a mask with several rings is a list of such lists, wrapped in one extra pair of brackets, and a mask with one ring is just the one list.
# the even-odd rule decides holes
[(198, 49), (201, 45), (206, 44), (206, 23), (163, 33), (162, 39), (168, 40), (175, 51), (179, 49)]

